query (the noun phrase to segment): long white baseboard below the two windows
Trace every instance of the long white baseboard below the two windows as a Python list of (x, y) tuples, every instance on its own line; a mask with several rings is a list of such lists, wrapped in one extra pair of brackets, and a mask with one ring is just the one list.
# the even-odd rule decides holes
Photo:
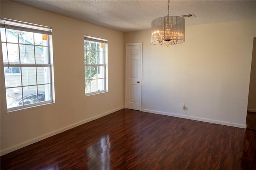
[(26, 141), (26, 142), (23, 142), (23, 143), (21, 143), (21, 144), (15, 145), (15, 146), (12, 146), (12, 147), (10, 147), (10, 148), (1, 150), (1, 154), (0, 154), (0, 155), (2, 156), (2, 155), (5, 155), (5, 154), (8, 154), (8, 153), (10, 153), (10, 152), (12, 152), (12, 151), (14, 151), (14, 150), (18, 150), (18, 149), (23, 148), (23, 147), (25, 147), (25, 146), (28, 146), (28, 145), (30, 145), (30, 144), (36, 143), (36, 142), (38, 142), (38, 141), (40, 141), (40, 140), (43, 140), (43, 139), (46, 139), (46, 138), (48, 138), (48, 137), (54, 136), (55, 134), (64, 132), (64, 131), (66, 131), (66, 130), (69, 130), (69, 129), (71, 129), (71, 128), (77, 127), (77, 126), (82, 125), (82, 124), (84, 124), (84, 123), (93, 121), (93, 120), (98, 119), (98, 118), (100, 118), (100, 117), (104, 117), (104, 116), (106, 116), (106, 115), (109, 115), (109, 114), (114, 113), (114, 112), (116, 112), (116, 111), (119, 111), (119, 110), (121, 110), (121, 109), (124, 109), (124, 106), (123, 106), (123, 107), (116, 108), (116, 109), (113, 109), (113, 110), (108, 111), (108, 112), (105, 112), (105, 113), (102, 113), (102, 114), (100, 114), (100, 115), (91, 117), (91, 118), (89, 118), (89, 119), (80, 121), (80, 122), (78, 122), (78, 123), (74, 123), (74, 124), (69, 125), (69, 126), (67, 126), (67, 127), (64, 127), (64, 128), (58, 129), (58, 130), (54, 130), (54, 131), (52, 131), (52, 132), (49, 132), (49, 133), (44, 134), (44, 135), (42, 135), (42, 136), (38, 136), (38, 137), (36, 137), (36, 138), (34, 138), (34, 139), (32, 139), (32, 140), (28, 140), (28, 141)]

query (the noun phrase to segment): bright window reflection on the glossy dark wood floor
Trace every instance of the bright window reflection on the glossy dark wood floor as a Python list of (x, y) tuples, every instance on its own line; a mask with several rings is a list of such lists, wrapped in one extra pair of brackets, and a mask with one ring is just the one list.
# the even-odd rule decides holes
[(110, 141), (109, 134), (102, 136), (94, 145), (87, 148), (88, 169), (110, 169)]

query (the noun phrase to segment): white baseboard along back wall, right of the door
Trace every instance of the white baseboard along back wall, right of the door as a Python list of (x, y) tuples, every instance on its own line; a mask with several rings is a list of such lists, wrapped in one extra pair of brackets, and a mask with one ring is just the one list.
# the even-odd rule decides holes
[(205, 118), (193, 117), (193, 116), (188, 116), (188, 115), (179, 115), (179, 114), (175, 114), (175, 113), (167, 113), (167, 112), (161, 112), (161, 111), (153, 111), (153, 110), (148, 110), (148, 109), (141, 109), (141, 111), (148, 112), (148, 113), (155, 113), (155, 114), (159, 114), (159, 115), (172, 116), (172, 117), (180, 117), (180, 118), (184, 118), (184, 119), (193, 119), (196, 121), (215, 123), (215, 124), (226, 125), (226, 126), (231, 126), (231, 127), (246, 128), (246, 124), (243, 125), (243, 124), (238, 124), (238, 123), (218, 121), (218, 120), (213, 120), (213, 119), (205, 119)]

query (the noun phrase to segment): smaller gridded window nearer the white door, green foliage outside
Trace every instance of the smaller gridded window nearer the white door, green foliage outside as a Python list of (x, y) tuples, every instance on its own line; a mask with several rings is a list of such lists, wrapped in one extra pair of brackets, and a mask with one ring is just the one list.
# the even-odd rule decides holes
[(107, 40), (84, 37), (85, 94), (107, 91)]

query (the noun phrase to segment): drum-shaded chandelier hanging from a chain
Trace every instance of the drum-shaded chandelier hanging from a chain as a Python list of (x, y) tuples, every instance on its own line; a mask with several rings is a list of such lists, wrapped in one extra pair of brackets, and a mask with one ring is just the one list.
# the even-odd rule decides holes
[(168, 15), (156, 18), (151, 22), (151, 43), (154, 45), (169, 45), (185, 42), (185, 19), (180, 16), (169, 16), (170, 0), (168, 0)]

